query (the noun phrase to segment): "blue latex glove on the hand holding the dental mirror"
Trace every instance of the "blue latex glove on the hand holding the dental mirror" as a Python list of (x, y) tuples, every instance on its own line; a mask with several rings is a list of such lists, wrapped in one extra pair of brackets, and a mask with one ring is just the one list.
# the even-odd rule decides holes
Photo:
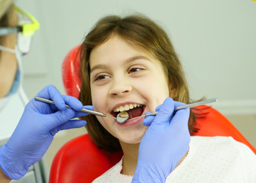
[[(70, 120), (87, 115), (80, 112), (83, 104), (78, 99), (61, 95), (53, 85), (42, 89), (37, 96), (51, 99), (55, 105), (35, 101), (34, 98), (29, 101), (11, 138), (1, 147), (0, 166), (11, 179), (23, 177), (28, 168), (44, 156), (59, 130), (86, 125), (85, 120)], [(73, 109), (66, 108), (65, 104)], [(92, 106), (84, 108), (93, 110)]]

